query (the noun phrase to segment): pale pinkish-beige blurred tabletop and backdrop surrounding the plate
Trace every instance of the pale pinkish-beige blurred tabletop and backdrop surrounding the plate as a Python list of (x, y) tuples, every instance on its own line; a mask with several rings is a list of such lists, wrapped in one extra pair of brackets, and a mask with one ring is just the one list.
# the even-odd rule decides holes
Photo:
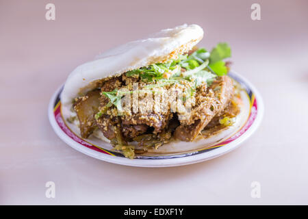
[[(44, 18), (55, 3), (55, 21)], [(260, 3), (261, 21), (251, 20)], [(308, 1), (0, 1), (0, 204), (308, 204)], [(117, 44), (197, 23), (229, 42), (266, 105), (257, 132), (217, 159), (133, 168), (87, 157), (47, 118), (77, 65)], [(55, 198), (45, 197), (54, 181)], [(251, 198), (251, 182), (261, 198)]]

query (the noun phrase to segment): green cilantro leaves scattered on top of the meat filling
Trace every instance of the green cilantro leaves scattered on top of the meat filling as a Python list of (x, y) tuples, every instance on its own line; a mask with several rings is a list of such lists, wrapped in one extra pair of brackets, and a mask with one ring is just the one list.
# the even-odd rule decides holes
[[(185, 80), (192, 83), (186, 93), (190, 96), (196, 92), (196, 88), (202, 83), (211, 84), (217, 76), (227, 75), (227, 67), (223, 61), (225, 58), (231, 57), (231, 49), (225, 42), (218, 43), (211, 52), (205, 48), (200, 48), (190, 55), (179, 55), (177, 60), (169, 60), (166, 63), (151, 64), (150, 66), (142, 67), (136, 70), (129, 70), (127, 77), (140, 77), (142, 81), (154, 82), (144, 86), (144, 90), (136, 92), (149, 92), (151, 88), (158, 88), (172, 83), (181, 83)], [(181, 72), (181, 68), (185, 68), (185, 72)], [(166, 77), (166, 75), (168, 75)], [(159, 83), (156, 83), (158, 82)], [(110, 99), (110, 102), (105, 108), (115, 105), (119, 111), (122, 110), (121, 99), (129, 92), (120, 92), (114, 90), (112, 92), (102, 92)], [(97, 114), (98, 118), (101, 114)]]

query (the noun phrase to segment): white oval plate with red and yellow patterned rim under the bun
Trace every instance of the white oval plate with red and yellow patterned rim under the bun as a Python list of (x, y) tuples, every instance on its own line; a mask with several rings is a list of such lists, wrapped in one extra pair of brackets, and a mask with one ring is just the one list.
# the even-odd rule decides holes
[(264, 104), (255, 87), (235, 72), (230, 72), (229, 76), (238, 81), (240, 86), (244, 88), (241, 95), (246, 107), (242, 108), (242, 116), (238, 116), (241, 119), (238, 120), (237, 125), (227, 131), (222, 131), (222, 133), (211, 138), (211, 141), (199, 140), (197, 142), (180, 142), (180, 144), (173, 142), (161, 146), (157, 153), (139, 155), (135, 159), (125, 158), (121, 153), (114, 151), (107, 142), (94, 137), (81, 138), (77, 128), (66, 123), (62, 115), (60, 100), (63, 86), (57, 89), (51, 97), (48, 109), (49, 121), (57, 136), (66, 144), (81, 153), (105, 162), (142, 167), (181, 166), (203, 162), (238, 147), (255, 132), (264, 114)]

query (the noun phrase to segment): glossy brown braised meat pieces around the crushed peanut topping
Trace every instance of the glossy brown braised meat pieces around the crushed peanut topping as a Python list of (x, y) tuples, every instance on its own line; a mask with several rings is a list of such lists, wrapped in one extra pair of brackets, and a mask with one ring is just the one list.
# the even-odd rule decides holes
[(232, 101), (233, 81), (228, 76), (216, 78), (209, 87), (206, 84), (199, 86), (191, 112), (181, 119), (179, 113), (170, 112), (170, 109), (164, 113), (118, 114), (116, 107), (110, 107), (111, 99), (101, 94), (129, 87), (138, 80), (126, 75), (107, 79), (101, 81), (100, 90), (92, 90), (77, 99), (73, 107), (83, 138), (88, 138), (94, 129), (99, 128), (114, 146), (136, 141), (139, 146), (157, 148), (172, 138), (193, 141), (204, 129), (217, 128), (223, 116), (238, 114)]

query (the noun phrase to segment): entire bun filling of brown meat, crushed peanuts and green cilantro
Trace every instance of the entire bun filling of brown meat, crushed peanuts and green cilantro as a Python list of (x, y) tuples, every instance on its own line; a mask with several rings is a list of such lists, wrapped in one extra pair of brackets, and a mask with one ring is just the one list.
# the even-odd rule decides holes
[(210, 53), (193, 49), (176, 60), (102, 79), (73, 104), (81, 137), (99, 130), (133, 158), (171, 140), (191, 142), (225, 129), (240, 112), (229, 64), (223, 61), (230, 55), (221, 43)]

